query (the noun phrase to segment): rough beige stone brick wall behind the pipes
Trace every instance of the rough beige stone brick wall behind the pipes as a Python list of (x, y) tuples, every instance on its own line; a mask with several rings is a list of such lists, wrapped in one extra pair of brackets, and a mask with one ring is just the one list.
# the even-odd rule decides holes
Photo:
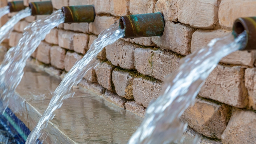
[[(31, 0), (32, 1), (32, 0)], [(33, 0), (35, 1), (35, 0)], [(30, 0), (25, 0), (28, 5)], [(213, 39), (230, 33), (238, 17), (255, 16), (255, 0), (52, 0), (54, 9), (93, 4), (94, 23), (61, 24), (52, 29), (31, 56), (46, 71), (63, 76), (81, 59), (97, 35), (122, 15), (162, 12), (162, 37), (120, 39), (98, 55), (101, 61), (79, 84), (120, 108), (144, 116), (157, 99), (164, 76), (176, 71), (181, 58)], [(2, 5), (5, 3), (3, 2)], [(9, 14), (9, 17), (13, 14)], [(17, 45), (26, 25), (44, 16), (20, 21), (10, 35)], [(7, 17), (1, 19), (6, 21)], [(256, 141), (255, 51), (224, 57), (201, 88), (196, 102), (181, 116), (202, 134), (202, 144), (253, 144)], [(193, 132), (191, 132), (191, 130)]]

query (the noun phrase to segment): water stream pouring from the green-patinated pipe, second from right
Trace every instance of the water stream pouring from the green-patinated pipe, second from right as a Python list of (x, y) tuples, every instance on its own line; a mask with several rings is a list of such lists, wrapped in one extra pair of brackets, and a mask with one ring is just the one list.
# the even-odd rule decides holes
[(42, 118), (40, 118), (36, 127), (28, 136), (26, 144), (37, 143), (37, 139), (43, 135), (41, 130), (46, 128), (49, 120), (54, 118), (54, 111), (61, 107), (64, 99), (73, 96), (74, 93), (71, 92), (72, 86), (77, 85), (82, 80), (85, 73), (99, 63), (98, 59), (96, 59), (97, 54), (101, 52), (104, 47), (114, 43), (123, 36), (124, 30), (119, 29), (118, 23), (111, 25), (110, 28), (105, 29), (99, 34), (98, 38), (94, 40), (84, 57), (75, 63), (73, 68), (70, 69), (54, 91), (54, 96), (52, 97), (48, 108), (45, 110)]

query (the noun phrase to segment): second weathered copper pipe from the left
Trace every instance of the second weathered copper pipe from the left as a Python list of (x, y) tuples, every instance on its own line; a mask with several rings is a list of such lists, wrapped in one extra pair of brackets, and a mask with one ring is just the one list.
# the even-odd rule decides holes
[(45, 1), (45, 2), (31, 2), (29, 3), (30, 9), (31, 9), (31, 15), (46, 15), (46, 14), (52, 14), (53, 7), (51, 1)]

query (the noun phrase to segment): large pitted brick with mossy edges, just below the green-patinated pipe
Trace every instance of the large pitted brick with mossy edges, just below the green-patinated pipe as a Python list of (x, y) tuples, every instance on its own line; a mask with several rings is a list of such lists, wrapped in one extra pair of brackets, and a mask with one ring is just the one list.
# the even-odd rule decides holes
[(143, 75), (164, 81), (164, 77), (179, 68), (182, 56), (162, 49), (138, 48), (134, 52), (135, 68)]

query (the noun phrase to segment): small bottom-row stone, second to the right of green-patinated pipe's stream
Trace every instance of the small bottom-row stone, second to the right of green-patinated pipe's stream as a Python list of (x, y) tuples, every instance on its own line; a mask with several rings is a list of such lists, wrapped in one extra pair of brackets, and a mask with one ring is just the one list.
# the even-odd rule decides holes
[(103, 98), (106, 101), (108, 101), (112, 104), (115, 104), (119, 108), (125, 109), (125, 102), (127, 100), (125, 100), (123, 97), (119, 97), (118, 95), (114, 94), (113, 92), (106, 90), (105, 94), (103, 95)]

